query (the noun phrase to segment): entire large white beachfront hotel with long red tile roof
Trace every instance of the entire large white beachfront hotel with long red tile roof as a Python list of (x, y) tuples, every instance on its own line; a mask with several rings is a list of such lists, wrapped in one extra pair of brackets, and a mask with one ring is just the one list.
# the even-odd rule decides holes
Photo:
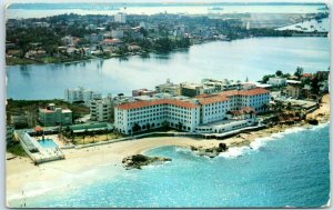
[[(201, 94), (189, 100), (159, 99), (127, 102), (114, 108), (114, 126), (118, 131), (125, 134), (132, 133), (135, 124), (140, 126), (140, 130), (169, 126), (195, 132), (202, 131), (201, 126), (219, 121), (225, 123), (230, 119), (230, 111), (262, 112), (264, 104), (269, 102), (270, 91), (262, 88)], [(232, 123), (234, 124), (234, 121)], [(241, 126), (246, 126), (246, 123), (242, 121)], [(218, 130), (205, 129), (203, 131)]]

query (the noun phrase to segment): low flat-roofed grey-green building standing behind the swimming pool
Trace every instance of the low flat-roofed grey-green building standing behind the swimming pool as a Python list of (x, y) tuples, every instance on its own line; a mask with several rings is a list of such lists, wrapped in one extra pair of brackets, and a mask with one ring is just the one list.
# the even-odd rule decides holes
[(72, 111), (50, 103), (47, 108), (39, 109), (39, 121), (47, 127), (72, 124)]

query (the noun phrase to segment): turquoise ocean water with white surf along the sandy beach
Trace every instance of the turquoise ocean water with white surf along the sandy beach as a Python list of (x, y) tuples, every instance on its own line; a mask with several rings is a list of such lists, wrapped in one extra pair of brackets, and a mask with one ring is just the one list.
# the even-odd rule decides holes
[[(290, 129), (232, 148), (214, 159), (162, 147), (150, 156), (171, 162), (99, 176), (10, 207), (322, 207), (330, 199), (329, 124)], [(101, 170), (101, 169), (99, 169)], [(108, 171), (109, 170), (109, 171)]]

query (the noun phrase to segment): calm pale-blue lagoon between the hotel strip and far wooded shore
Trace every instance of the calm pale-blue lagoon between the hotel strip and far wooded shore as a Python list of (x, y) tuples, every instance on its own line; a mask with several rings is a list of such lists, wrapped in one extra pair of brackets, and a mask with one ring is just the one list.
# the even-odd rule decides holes
[(293, 73), (327, 70), (327, 38), (255, 38), (215, 41), (168, 54), (134, 56), (77, 63), (7, 67), (7, 98), (63, 98), (64, 89), (82, 86), (102, 93), (131, 94), (154, 89), (167, 79), (179, 83), (203, 78), (256, 81), (276, 70)]

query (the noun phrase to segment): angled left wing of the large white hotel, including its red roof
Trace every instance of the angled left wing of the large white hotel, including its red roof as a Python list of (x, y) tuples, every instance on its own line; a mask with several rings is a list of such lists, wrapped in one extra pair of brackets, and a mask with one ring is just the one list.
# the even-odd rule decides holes
[(114, 108), (114, 126), (122, 133), (170, 126), (194, 131), (200, 122), (200, 106), (190, 101), (159, 99), (119, 104)]

